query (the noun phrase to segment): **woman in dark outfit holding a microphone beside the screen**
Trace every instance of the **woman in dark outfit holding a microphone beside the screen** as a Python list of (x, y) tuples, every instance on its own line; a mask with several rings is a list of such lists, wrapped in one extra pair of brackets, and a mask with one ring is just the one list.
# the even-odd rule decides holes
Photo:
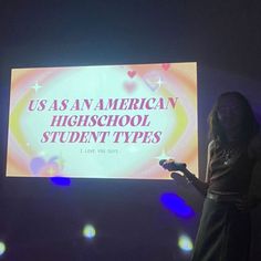
[(250, 247), (251, 173), (261, 160), (259, 125), (246, 97), (238, 92), (219, 96), (209, 115), (206, 181), (186, 165), (166, 160), (206, 196), (192, 261), (247, 261)]

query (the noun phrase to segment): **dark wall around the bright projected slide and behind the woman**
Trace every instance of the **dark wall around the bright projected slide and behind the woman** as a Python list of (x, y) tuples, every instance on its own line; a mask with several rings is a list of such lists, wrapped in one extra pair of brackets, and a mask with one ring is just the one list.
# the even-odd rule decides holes
[[(4, 178), (11, 67), (196, 61), (203, 179), (216, 97), (238, 90), (261, 118), (260, 13), (258, 0), (0, 0), (0, 241), (8, 248), (0, 260), (188, 260), (177, 238), (195, 239), (202, 205), (191, 187), (174, 181), (73, 179), (55, 187)], [(167, 210), (160, 203), (167, 191), (196, 215), (181, 219)], [(260, 212), (252, 213), (251, 260), (261, 259)], [(97, 230), (92, 242), (82, 237), (86, 222)]]

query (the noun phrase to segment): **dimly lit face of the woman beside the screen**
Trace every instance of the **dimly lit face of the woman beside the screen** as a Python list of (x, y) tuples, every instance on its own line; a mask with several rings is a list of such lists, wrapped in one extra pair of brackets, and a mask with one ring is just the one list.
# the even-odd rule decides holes
[(243, 106), (236, 96), (225, 96), (218, 104), (218, 118), (225, 130), (236, 129), (243, 123)]

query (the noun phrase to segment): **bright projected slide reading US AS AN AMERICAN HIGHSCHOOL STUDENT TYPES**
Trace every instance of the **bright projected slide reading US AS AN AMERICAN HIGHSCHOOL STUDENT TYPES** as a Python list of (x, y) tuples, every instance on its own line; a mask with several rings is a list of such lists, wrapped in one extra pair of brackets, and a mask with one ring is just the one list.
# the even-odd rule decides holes
[(7, 176), (169, 179), (198, 171), (197, 64), (13, 69)]

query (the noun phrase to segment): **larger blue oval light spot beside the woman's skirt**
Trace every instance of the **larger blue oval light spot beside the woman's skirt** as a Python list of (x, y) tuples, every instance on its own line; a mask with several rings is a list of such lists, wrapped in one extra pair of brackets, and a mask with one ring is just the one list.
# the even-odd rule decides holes
[(160, 201), (165, 208), (169, 209), (173, 213), (180, 218), (190, 218), (195, 215), (192, 208), (176, 194), (163, 194)]

